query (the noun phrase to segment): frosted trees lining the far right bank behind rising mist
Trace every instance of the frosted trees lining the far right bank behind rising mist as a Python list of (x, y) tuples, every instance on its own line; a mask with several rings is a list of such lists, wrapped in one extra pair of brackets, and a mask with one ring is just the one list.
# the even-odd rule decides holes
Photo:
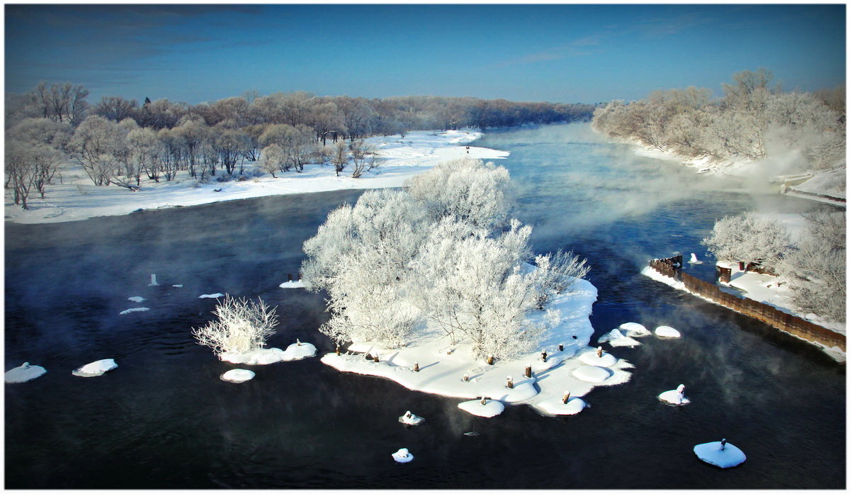
[(733, 75), (723, 97), (707, 88), (655, 91), (646, 99), (610, 102), (593, 113), (593, 128), (679, 156), (759, 160), (795, 150), (792, 166), (824, 169), (843, 162), (847, 143), (844, 87), (786, 93), (765, 69)]

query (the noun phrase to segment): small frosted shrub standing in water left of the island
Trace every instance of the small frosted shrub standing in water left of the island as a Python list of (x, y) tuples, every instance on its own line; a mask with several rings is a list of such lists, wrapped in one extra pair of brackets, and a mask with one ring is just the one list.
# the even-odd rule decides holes
[(224, 300), (212, 311), (218, 321), (210, 321), (207, 326), (193, 327), (192, 335), (198, 344), (212, 348), (215, 355), (261, 349), (266, 338), (275, 333), (275, 309), (260, 299), (253, 302), (225, 295)]

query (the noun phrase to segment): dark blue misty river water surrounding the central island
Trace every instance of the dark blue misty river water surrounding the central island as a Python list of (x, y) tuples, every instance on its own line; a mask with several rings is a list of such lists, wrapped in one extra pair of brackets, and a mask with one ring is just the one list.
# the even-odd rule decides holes
[[(635, 156), (587, 124), (498, 131), (477, 144), (511, 151), (499, 164), (517, 185), (517, 216), (535, 226), (535, 250), (590, 259), (596, 337), (637, 321), (683, 338), (611, 349), (636, 366), (632, 380), (594, 389), (591, 407), (569, 418), (529, 406), (472, 417), (460, 400), (343, 374), (318, 358), (258, 366), (235, 385), (218, 379), (235, 366), (190, 335), (215, 306), (198, 296), (262, 297), (280, 315), (270, 346), (300, 338), (331, 351), (316, 331), (327, 318), (322, 296), (278, 285), (297, 272), (301, 245), (326, 214), (360, 192), (7, 224), (6, 369), (29, 361), (48, 373), (5, 385), (6, 487), (845, 487), (845, 367), (639, 274), (649, 258), (693, 252), (706, 264), (686, 269), (709, 280), (700, 239), (715, 219), (817, 204)], [(160, 287), (147, 286), (151, 273)], [(119, 315), (137, 295), (150, 310)], [(105, 358), (119, 367), (71, 376)], [(691, 405), (656, 399), (679, 383)], [(426, 422), (405, 429), (405, 410)], [(745, 451), (740, 467), (694, 457), (694, 445), (722, 438)], [(395, 464), (399, 447), (416, 459)]]

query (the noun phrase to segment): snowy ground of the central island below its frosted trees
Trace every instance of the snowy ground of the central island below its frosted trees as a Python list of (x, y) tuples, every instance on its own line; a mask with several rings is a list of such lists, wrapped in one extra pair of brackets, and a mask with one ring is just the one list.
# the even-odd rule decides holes
[[(597, 352), (587, 346), (593, 334), (588, 315), (596, 297), (596, 287), (589, 281), (579, 280), (573, 292), (553, 298), (553, 308), (561, 311), (564, 321), (541, 342), (540, 350), (547, 352), (546, 361), (542, 361), (538, 350), (510, 361), (496, 361), (494, 365), (488, 365), (473, 359), (469, 344), (450, 344), (450, 340), (439, 331), (423, 335), (400, 349), (382, 349), (369, 343), (355, 342), (348, 347), (347, 353), (327, 354), (321, 361), (340, 371), (392, 379), (408, 389), (425, 393), (467, 400), (486, 396), (501, 403), (523, 403), (535, 406), (544, 414), (552, 413), (558, 409), (552, 406), (553, 402), (557, 400), (560, 403), (566, 391), (574, 397), (584, 396), (595, 386), (625, 383), (631, 377), (631, 372), (626, 369), (632, 368), (632, 365), (615, 356), (599, 360), (609, 364), (607, 367), (587, 366), (580, 358), (587, 352), (592, 352), (595, 357)], [(558, 344), (564, 345), (563, 351), (558, 351)], [(367, 355), (376, 354), (378, 362), (367, 358)], [(419, 371), (415, 372), (413, 369), (417, 364)], [(531, 366), (531, 378), (525, 377), (525, 366)], [(575, 376), (576, 371), (582, 376), (590, 370), (598, 370), (597, 373), (604, 373), (605, 377), (601, 382), (588, 382)], [(468, 380), (464, 380), (464, 376)], [(507, 388), (509, 377), (513, 380), (512, 389)], [(475, 403), (470, 402), (467, 408), (473, 405)], [(495, 410), (482, 409), (479, 412)], [(575, 413), (575, 410), (566, 412)]]

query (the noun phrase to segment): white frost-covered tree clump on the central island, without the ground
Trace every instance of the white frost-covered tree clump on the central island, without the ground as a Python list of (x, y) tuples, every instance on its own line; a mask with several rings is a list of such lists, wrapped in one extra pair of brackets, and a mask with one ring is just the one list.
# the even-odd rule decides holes
[(389, 347), (444, 334), (478, 357), (534, 349), (558, 315), (528, 313), (587, 268), (571, 253), (526, 264), (531, 229), (507, 219), (509, 186), (506, 169), (458, 160), (330, 213), (304, 242), (305, 286), (329, 295), (320, 331)]

